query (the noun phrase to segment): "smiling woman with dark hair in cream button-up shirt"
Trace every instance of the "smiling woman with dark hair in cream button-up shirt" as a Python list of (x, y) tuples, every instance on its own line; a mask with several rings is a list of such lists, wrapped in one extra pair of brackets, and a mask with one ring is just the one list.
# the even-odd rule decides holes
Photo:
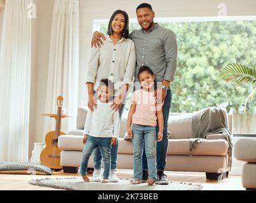
[[(88, 63), (87, 88), (88, 108), (93, 112), (97, 108), (95, 91), (101, 79), (108, 78), (114, 82), (114, 100), (112, 107), (119, 110), (119, 117), (123, 114), (126, 92), (129, 83), (133, 81), (135, 72), (135, 45), (129, 35), (129, 18), (125, 11), (115, 11), (109, 20), (106, 40), (100, 48), (91, 48)], [(118, 135), (119, 136), (119, 135)], [(119, 181), (116, 176), (116, 159), (118, 156), (118, 142), (111, 148), (110, 182)], [(99, 148), (93, 152), (95, 162), (91, 181), (101, 181), (101, 153)]]

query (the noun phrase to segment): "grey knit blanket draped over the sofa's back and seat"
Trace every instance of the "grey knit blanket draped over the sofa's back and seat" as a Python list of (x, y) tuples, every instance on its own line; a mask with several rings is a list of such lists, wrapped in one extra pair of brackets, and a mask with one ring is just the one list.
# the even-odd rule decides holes
[(192, 132), (194, 139), (190, 140), (189, 155), (192, 156), (197, 146), (209, 134), (222, 133), (224, 140), (227, 141), (228, 148), (228, 161), (227, 168), (229, 171), (232, 166), (232, 137), (229, 131), (229, 123), (227, 121), (227, 111), (225, 108), (208, 107), (203, 108), (192, 115)]

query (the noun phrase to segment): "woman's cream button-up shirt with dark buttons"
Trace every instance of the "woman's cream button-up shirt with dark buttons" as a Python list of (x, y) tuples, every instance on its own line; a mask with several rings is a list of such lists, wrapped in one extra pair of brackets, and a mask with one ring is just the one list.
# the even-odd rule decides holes
[(131, 84), (135, 72), (136, 52), (131, 39), (122, 38), (114, 45), (109, 35), (101, 48), (91, 48), (86, 82), (98, 88), (101, 79), (114, 82), (114, 95), (118, 95), (123, 84)]

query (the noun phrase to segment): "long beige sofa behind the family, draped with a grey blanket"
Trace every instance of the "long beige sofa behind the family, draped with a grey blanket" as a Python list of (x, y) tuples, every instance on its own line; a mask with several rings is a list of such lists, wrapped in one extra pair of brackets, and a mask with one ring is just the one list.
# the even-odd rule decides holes
[[(62, 149), (60, 159), (64, 173), (77, 173), (81, 151), (83, 150), (82, 136), (86, 119), (86, 108), (79, 107), (77, 112), (76, 129), (60, 136), (58, 147)], [(222, 135), (209, 135), (192, 155), (189, 156), (189, 139), (192, 138), (192, 113), (171, 114), (168, 121), (169, 137), (168, 154), (166, 157), (166, 171), (205, 172), (206, 178), (219, 180), (227, 177), (227, 141)], [(126, 117), (121, 119), (118, 148), (118, 169), (133, 169), (133, 148), (131, 141), (123, 140), (126, 133)], [(232, 132), (232, 114), (227, 116), (229, 129)], [(90, 157), (88, 167), (93, 168), (93, 156)]]

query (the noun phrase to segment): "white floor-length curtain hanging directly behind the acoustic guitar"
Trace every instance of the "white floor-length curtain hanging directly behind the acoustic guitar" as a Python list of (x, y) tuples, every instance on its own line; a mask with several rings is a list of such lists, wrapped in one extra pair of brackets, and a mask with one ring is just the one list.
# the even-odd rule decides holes
[[(55, 0), (51, 25), (50, 58), (45, 112), (57, 113), (57, 97), (72, 118), (62, 119), (61, 131), (76, 128), (79, 88), (79, 1)], [(55, 130), (55, 119), (44, 119), (44, 134)]]

